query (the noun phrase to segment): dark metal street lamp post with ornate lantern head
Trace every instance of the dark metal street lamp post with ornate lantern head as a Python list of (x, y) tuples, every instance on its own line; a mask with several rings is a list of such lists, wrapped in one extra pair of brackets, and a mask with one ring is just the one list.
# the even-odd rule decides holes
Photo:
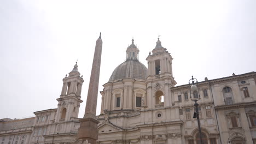
[[(196, 112), (194, 113), (193, 118), (197, 119), (197, 125), (198, 125), (199, 135), (200, 135), (200, 144), (203, 144), (203, 142), (202, 142), (202, 133), (201, 133), (201, 125), (200, 125), (200, 119), (199, 119), (199, 112), (198, 112), (198, 105), (199, 104), (197, 104), (197, 101), (200, 100), (200, 94), (199, 94), (199, 88), (197, 88), (196, 85), (195, 85), (195, 80), (196, 80), (196, 83), (197, 83), (197, 79), (195, 79), (193, 76), (192, 76), (192, 79), (189, 80), (190, 100), (195, 102), (194, 106), (195, 106), (195, 111)], [(190, 81), (192, 81), (191, 87), (190, 87)], [(194, 97), (192, 99), (191, 91), (192, 92), (197, 91), (197, 98), (194, 95)]]

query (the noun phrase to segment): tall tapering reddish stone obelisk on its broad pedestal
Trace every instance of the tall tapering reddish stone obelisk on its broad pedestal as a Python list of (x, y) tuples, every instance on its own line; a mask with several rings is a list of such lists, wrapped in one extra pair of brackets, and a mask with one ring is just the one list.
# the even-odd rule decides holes
[(98, 80), (100, 78), (101, 67), (101, 50), (102, 40), (100, 33), (100, 37), (96, 41), (94, 51), (94, 61), (92, 62), (91, 78), (86, 100), (85, 113), (83, 119), (79, 120), (80, 128), (78, 129), (77, 134), (78, 140), (88, 140), (88, 142), (91, 144), (96, 144), (96, 140), (98, 139), (97, 124), (99, 122), (96, 119), (96, 108), (98, 97)]

